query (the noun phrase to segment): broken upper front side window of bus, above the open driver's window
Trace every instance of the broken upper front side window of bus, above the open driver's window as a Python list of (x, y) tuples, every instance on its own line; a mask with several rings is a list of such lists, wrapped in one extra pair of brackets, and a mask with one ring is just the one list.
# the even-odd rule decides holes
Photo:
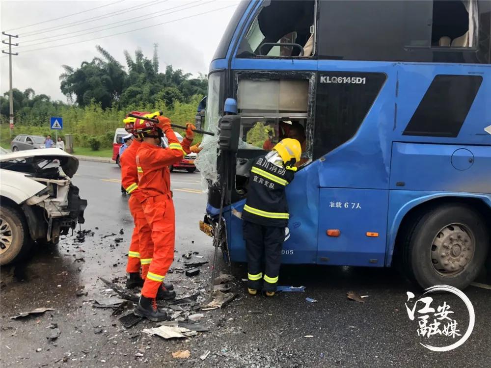
[[(315, 2), (312, 0), (268, 2), (249, 26), (240, 44), (238, 57), (300, 56), (300, 47), (281, 46), (281, 44), (298, 44), (306, 50), (302, 56), (311, 56), (313, 53), (313, 35), (311, 34), (313, 27), (311, 26), (315, 23), (314, 9)], [(269, 45), (263, 46), (265, 43)]]

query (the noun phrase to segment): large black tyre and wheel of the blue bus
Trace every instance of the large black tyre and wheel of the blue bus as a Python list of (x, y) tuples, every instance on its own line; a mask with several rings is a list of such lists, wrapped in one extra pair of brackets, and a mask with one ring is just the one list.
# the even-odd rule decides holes
[(404, 261), (422, 288), (466, 288), (486, 260), (490, 243), (484, 219), (465, 205), (437, 207), (416, 220)]

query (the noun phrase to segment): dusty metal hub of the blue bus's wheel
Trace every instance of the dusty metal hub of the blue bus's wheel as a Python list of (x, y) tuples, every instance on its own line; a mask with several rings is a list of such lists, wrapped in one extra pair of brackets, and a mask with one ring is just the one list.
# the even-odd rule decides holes
[(453, 276), (461, 272), (474, 256), (474, 237), (462, 224), (442, 228), (433, 239), (431, 262), (436, 272)]

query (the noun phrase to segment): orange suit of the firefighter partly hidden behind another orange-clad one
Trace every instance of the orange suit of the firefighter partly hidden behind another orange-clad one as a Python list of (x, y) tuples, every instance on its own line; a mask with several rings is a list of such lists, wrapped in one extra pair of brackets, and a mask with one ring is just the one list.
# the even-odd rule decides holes
[(145, 219), (145, 213), (143, 213), (143, 196), (138, 188), (138, 173), (136, 169), (136, 151), (140, 147), (141, 143), (136, 139), (133, 143), (124, 151), (124, 155), (120, 157), (121, 163), (121, 185), (131, 197), (128, 201), (130, 212), (135, 222), (133, 228), (133, 235), (131, 237), (130, 251), (128, 252), (128, 264), (126, 266), (126, 272), (140, 272), (141, 263), (141, 277), (144, 279), (150, 266), (153, 254), (153, 242), (150, 226), (148, 226)]

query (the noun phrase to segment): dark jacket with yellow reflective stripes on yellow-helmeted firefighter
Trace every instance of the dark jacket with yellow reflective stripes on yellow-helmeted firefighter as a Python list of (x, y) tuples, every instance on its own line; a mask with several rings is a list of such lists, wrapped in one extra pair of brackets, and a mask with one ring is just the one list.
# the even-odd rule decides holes
[(249, 176), (249, 190), (242, 219), (264, 226), (287, 227), (285, 187), (294, 177), (292, 169), (280, 168), (265, 156), (256, 159)]

